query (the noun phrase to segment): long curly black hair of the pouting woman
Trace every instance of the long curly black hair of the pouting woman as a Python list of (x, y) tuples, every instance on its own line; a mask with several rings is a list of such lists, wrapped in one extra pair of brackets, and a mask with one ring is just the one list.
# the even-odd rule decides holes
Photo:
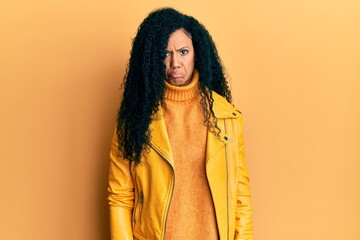
[(130, 60), (124, 76), (124, 95), (117, 117), (119, 152), (123, 158), (140, 162), (150, 142), (152, 116), (164, 101), (166, 47), (171, 33), (183, 29), (190, 34), (195, 50), (195, 69), (199, 72), (200, 101), (205, 124), (219, 134), (213, 111), (212, 91), (231, 102), (231, 92), (215, 43), (195, 18), (172, 8), (151, 12), (133, 39)]

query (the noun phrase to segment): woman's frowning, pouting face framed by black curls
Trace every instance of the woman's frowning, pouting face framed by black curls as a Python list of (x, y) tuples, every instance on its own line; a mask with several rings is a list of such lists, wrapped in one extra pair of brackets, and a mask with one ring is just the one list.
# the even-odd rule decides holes
[(166, 48), (166, 81), (175, 86), (186, 86), (191, 82), (195, 65), (192, 40), (184, 31), (173, 32)]

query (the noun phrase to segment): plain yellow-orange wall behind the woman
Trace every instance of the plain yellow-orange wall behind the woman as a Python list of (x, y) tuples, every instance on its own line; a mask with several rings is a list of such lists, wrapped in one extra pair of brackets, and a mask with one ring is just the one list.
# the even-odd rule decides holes
[(131, 39), (172, 6), (212, 34), (245, 118), (257, 240), (360, 239), (360, 1), (0, 2), (0, 239), (108, 239)]

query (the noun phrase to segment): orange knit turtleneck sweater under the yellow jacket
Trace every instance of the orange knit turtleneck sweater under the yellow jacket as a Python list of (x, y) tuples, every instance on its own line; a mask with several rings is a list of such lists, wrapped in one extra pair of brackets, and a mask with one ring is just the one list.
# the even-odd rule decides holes
[(207, 127), (200, 105), (199, 75), (189, 85), (166, 82), (163, 112), (174, 158), (175, 187), (166, 239), (218, 239), (214, 204), (205, 172)]

